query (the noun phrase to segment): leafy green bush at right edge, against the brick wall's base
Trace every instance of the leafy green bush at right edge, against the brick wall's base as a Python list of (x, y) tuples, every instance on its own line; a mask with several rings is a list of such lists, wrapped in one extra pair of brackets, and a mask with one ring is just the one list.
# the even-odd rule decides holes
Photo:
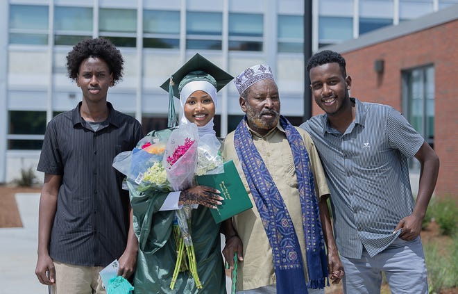
[(452, 236), (457, 231), (458, 207), (455, 199), (443, 197), (432, 204), (434, 220), (439, 224), (441, 234)]

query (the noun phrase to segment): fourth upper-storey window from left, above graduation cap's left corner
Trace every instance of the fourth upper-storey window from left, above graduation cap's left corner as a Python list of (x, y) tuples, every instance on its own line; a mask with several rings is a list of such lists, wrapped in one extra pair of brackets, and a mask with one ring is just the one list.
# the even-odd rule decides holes
[(143, 47), (180, 47), (180, 12), (165, 10), (144, 10)]

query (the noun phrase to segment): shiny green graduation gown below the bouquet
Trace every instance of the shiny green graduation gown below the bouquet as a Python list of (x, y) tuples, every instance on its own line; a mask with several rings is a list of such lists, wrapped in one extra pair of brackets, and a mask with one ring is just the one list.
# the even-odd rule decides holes
[(168, 193), (137, 193), (130, 188), (133, 225), (139, 240), (135, 294), (209, 293), (226, 294), (226, 277), (220, 245), (220, 224), (210, 209), (199, 205), (192, 211), (191, 236), (203, 288), (197, 289), (189, 271), (180, 272), (173, 290), (169, 288), (176, 263), (172, 224), (175, 211), (159, 211)]

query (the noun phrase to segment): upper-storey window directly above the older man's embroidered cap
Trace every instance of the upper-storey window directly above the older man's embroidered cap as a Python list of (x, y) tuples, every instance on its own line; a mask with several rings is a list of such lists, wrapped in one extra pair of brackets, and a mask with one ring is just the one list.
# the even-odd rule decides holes
[(262, 51), (263, 16), (229, 14), (229, 50)]

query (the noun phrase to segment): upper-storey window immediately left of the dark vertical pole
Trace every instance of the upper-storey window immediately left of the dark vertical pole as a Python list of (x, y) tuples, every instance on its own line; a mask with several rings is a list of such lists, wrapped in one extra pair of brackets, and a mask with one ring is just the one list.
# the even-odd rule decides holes
[(304, 51), (304, 17), (278, 15), (278, 52)]

